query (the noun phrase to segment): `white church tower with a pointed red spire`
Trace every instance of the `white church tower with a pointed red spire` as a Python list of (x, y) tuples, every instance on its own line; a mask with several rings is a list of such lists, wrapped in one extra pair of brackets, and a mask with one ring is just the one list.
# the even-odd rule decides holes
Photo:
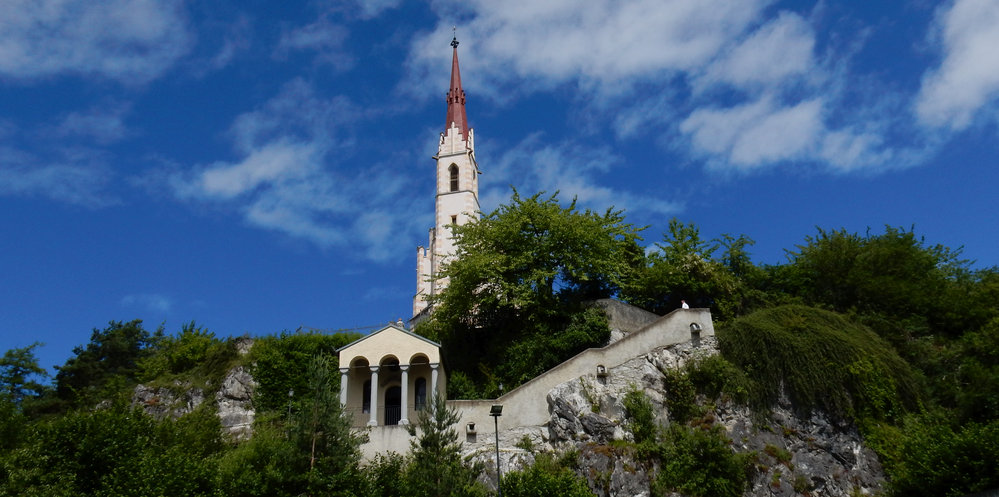
[(413, 321), (429, 313), (427, 299), (447, 286), (437, 275), (455, 253), (451, 226), (479, 218), (479, 166), (475, 162), (474, 130), (465, 116), (465, 91), (458, 70), (458, 39), (451, 40), (451, 87), (447, 92), (447, 119), (437, 144), (437, 195), (430, 243), (416, 249), (416, 295)]

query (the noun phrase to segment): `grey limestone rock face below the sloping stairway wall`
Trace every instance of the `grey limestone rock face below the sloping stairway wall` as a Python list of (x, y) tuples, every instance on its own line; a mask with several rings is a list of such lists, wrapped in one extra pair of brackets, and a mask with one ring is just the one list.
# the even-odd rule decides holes
[[(666, 426), (672, 421), (661, 371), (717, 353), (715, 338), (705, 337), (655, 350), (610, 368), (604, 376), (587, 375), (558, 385), (546, 399), (548, 436), (536, 449), (578, 451), (579, 473), (597, 495), (651, 495), (657, 468), (636, 461), (626, 446), (611, 444), (631, 439), (624, 396), (631, 389), (643, 391), (657, 413), (656, 422)], [(884, 472), (877, 456), (848, 423), (822, 413), (801, 416), (787, 399), (765, 422), (754, 422), (758, 417), (747, 407), (731, 402), (719, 402), (708, 417), (725, 428), (735, 451), (758, 454), (758, 471), (747, 496), (848, 497), (882, 489)], [(501, 438), (501, 451), (513, 450), (504, 445)]]

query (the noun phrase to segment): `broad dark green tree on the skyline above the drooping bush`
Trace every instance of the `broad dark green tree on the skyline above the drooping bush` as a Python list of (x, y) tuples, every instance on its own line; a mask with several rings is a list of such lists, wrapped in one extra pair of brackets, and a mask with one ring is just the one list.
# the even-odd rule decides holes
[[(959, 336), (996, 315), (994, 300), (969, 300), (976, 274), (960, 250), (928, 245), (914, 231), (891, 226), (863, 236), (818, 231), (788, 253), (785, 290), (806, 303), (872, 316), (868, 324), (896, 344), (909, 337)], [(982, 313), (983, 306), (991, 312)]]

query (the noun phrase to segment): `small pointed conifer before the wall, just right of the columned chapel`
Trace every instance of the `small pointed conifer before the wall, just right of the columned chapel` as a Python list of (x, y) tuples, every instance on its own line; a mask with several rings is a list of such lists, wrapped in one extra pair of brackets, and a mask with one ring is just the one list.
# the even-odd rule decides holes
[(481, 467), (466, 466), (461, 460), (458, 441), (458, 411), (447, 406), (442, 395), (434, 397), (427, 409), (420, 411), (418, 422), (410, 427), (412, 464), (407, 471), (412, 495), (468, 496), (484, 494), (475, 477)]

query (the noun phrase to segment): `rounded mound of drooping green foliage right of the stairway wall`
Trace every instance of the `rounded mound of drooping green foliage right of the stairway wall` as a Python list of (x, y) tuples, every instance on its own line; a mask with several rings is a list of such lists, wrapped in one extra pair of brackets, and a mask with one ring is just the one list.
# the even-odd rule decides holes
[(912, 368), (870, 330), (801, 305), (758, 311), (718, 331), (726, 359), (747, 371), (754, 404), (786, 392), (795, 407), (895, 421), (918, 406)]

